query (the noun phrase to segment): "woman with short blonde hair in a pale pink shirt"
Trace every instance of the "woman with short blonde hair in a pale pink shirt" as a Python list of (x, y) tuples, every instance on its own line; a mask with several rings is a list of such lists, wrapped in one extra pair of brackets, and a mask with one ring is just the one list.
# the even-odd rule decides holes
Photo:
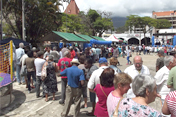
[(111, 117), (111, 115), (115, 111), (115, 108), (120, 98), (122, 98), (123, 95), (127, 93), (128, 89), (130, 89), (131, 82), (132, 78), (126, 73), (122, 72), (115, 75), (113, 81), (115, 90), (108, 95), (106, 102), (109, 117)]

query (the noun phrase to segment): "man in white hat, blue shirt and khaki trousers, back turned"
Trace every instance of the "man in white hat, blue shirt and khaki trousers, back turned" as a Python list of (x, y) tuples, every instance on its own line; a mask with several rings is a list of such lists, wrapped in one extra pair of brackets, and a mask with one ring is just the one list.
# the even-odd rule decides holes
[(65, 69), (60, 73), (61, 76), (67, 76), (68, 86), (66, 88), (66, 101), (64, 105), (63, 112), (61, 113), (61, 117), (66, 117), (69, 113), (73, 98), (75, 104), (74, 117), (78, 117), (80, 112), (80, 104), (81, 104), (81, 87), (84, 84), (85, 77), (83, 70), (78, 68), (80, 64), (78, 59), (73, 59), (71, 61), (72, 67)]

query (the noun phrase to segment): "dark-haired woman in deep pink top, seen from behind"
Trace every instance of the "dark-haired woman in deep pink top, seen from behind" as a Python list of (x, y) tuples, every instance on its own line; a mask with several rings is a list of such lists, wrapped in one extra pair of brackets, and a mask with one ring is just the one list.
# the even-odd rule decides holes
[(98, 97), (94, 111), (94, 115), (97, 117), (108, 117), (106, 100), (109, 93), (114, 90), (113, 80), (114, 70), (106, 68), (100, 76), (100, 84), (97, 84), (94, 89)]

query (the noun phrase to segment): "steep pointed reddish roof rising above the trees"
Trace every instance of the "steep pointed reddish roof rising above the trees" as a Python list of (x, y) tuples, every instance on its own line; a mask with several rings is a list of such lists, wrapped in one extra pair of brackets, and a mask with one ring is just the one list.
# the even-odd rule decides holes
[(79, 8), (75, 2), (75, 0), (71, 0), (70, 4), (67, 6), (66, 10), (64, 11), (66, 14), (74, 14), (78, 15), (79, 14)]

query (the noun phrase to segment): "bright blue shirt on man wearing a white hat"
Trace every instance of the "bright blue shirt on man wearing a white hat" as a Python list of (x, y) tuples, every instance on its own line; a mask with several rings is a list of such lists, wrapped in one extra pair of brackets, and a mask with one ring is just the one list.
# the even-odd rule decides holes
[(85, 80), (83, 70), (77, 66), (72, 66), (62, 71), (61, 76), (67, 76), (68, 85), (73, 88), (78, 88), (81, 80)]

